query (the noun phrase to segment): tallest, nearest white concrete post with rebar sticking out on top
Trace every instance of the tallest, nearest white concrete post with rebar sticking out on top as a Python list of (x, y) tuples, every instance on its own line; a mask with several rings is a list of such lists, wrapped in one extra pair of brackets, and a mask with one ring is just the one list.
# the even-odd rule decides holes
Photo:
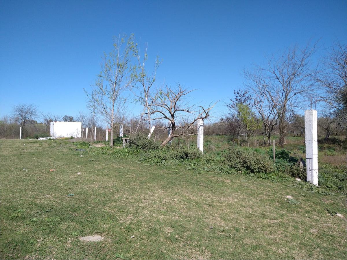
[(307, 181), (318, 186), (317, 110), (305, 111)]

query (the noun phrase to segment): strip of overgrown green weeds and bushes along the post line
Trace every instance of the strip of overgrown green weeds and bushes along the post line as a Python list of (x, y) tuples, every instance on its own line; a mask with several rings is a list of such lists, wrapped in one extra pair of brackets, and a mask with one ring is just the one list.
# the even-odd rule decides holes
[[(212, 139), (211, 139), (212, 138)], [(207, 149), (204, 156), (195, 144), (178, 146), (178, 142), (160, 147), (160, 142), (155, 142), (153, 137), (147, 138), (144, 133), (139, 133), (129, 140), (124, 149), (111, 149), (101, 147), (92, 149), (93, 153), (112, 155), (117, 158), (128, 158), (149, 165), (184, 166), (187, 170), (195, 172), (211, 172), (223, 174), (242, 174), (255, 176), (272, 181), (294, 181), (299, 178), (306, 181), (306, 166), (299, 166), (298, 160), (304, 152), (304, 147), (297, 145), (295, 151), (276, 149), (276, 163), (273, 163), (272, 148), (240, 147), (233, 143), (223, 146), (223, 140), (207, 137), (205, 143), (214, 141), (214, 151)], [(75, 142), (76, 145), (88, 148), (88, 142)], [(120, 144), (119, 144), (120, 146)], [(209, 145), (206, 145), (209, 147)], [(216, 149), (215, 147), (219, 147)], [(290, 147), (290, 146), (289, 146)], [(323, 150), (325, 147), (321, 147)], [(328, 150), (332, 150), (330, 147)], [(309, 185), (309, 184), (307, 184)], [(312, 188), (313, 192), (342, 192), (347, 194), (347, 169), (336, 169), (333, 165), (320, 166), (319, 188)], [(311, 185), (309, 185), (311, 186)], [(306, 186), (298, 185), (307, 189)]]

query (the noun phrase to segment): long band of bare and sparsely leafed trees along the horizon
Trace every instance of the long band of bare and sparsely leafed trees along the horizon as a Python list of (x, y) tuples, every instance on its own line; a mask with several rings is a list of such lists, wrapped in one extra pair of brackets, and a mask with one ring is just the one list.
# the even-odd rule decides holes
[[(248, 145), (251, 136), (263, 135), (264, 144), (270, 145), (276, 132), (279, 145), (283, 146), (288, 134), (304, 135), (303, 111), (318, 106), (318, 124), (324, 140), (337, 133), (344, 135), (347, 47), (335, 42), (319, 63), (313, 59), (316, 51), (317, 44), (294, 46), (266, 57), (262, 65), (244, 69), (244, 85), (234, 90), (234, 97), (225, 104), (224, 115), (207, 125), (206, 133), (244, 139)], [(148, 60), (147, 44), (141, 50), (134, 35), (115, 37), (112, 51), (104, 53), (95, 83), (90, 90), (84, 90), (88, 113), (61, 116), (41, 112), (43, 122), (39, 126), (37, 107), (19, 104), (13, 107), (10, 117), (0, 121), (0, 136), (13, 138), (14, 125), (22, 127), (24, 137), (30, 136), (30, 131), (49, 131), (50, 122), (61, 120), (81, 121), (83, 128), (90, 129), (107, 125), (111, 140), (117, 136), (114, 131), (119, 124), (125, 126), (128, 135), (146, 131), (151, 136), (152, 125), (161, 133), (170, 129), (170, 136), (161, 137), (162, 145), (173, 138), (194, 135), (196, 121), (210, 119), (215, 103), (200, 106), (189, 99), (194, 89), (180, 84), (156, 84), (161, 60), (155, 57), (150, 69)], [(140, 105), (142, 113), (131, 116), (130, 103)]]

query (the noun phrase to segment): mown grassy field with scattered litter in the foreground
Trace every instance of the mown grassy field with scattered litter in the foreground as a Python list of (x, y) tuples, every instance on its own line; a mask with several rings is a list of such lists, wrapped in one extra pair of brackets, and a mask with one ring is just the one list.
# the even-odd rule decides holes
[(347, 258), (340, 193), (75, 149), (0, 140), (1, 259)]

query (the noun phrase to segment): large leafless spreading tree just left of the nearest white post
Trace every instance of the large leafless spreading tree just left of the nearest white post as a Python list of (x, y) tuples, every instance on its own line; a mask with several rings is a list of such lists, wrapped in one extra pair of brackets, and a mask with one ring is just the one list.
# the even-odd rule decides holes
[(265, 66), (244, 71), (249, 90), (270, 109), (266, 115), (272, 110), (276, 112), (282, 147), (286, 142), (288, 112), (307, 105), (307, 97), (316, 83), (312, 80), (316, 70), (312, 69), (310, 61), (314, 53), (315, 45), (307, 45), (304, 49), (295, 46), (278, 57), (272, 56)]

